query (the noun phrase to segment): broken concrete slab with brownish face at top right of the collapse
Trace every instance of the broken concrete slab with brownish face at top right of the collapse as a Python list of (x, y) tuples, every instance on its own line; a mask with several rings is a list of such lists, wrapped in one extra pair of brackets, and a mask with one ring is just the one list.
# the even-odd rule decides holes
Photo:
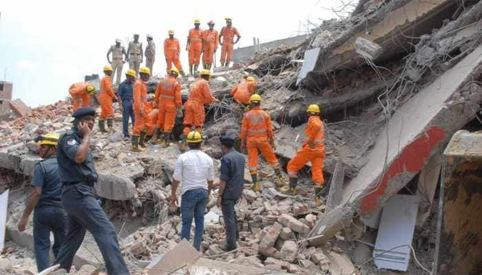
[[(408, 41), (413, 43), (412, 37), (430, 34), (433, 28), (440, 28), (442, 20), (431, 20), (448, 11), (454, 10), (455, 0), (434, 1), (392, 1), (384, 8), (377, 10), (377, 14), (367, 21), (359, 23), (353, 30), (328, 46), (319, 56), (314, 72), (325, 73), (333, 69), (353, 67), (364, 63), (355, 51), (355, 40), (362, 37), (384, 48), (379, 60), (386, 60), (399, 52), (405, 52), (404, 45)], [(397, 7), (397, 4), (405, 2)], [(366, 26), (367, 22), (377, 21), (374, 25)], [(406, 35), (404, 35), (406, 34)]]

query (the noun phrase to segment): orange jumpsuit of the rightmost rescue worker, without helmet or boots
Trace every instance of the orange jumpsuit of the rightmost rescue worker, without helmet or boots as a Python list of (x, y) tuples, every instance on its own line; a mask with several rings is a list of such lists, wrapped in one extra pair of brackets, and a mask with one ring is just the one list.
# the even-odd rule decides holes
[[(323, 179), (323, 162), (325, 159), (324, 145), (324, 126), (322, 120), (317, 115), (313, 115), (308, 119), (308, 125), (304, 130), (306, 138), (300, 151), (298, 151), (286, 166), (290, 177), (294, 177), (297, 171), (303, 168), (307, 162), (311, 162), (311, 178), (317, 185), (324, 184)], [(314, 148), (308, 146), (308, 141), (315, 144)]]

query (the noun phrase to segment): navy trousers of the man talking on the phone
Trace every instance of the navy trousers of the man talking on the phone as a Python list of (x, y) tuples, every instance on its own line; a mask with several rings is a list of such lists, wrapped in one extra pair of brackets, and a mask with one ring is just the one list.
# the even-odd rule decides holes
[(74, 255), (83, 242), (85, 230), (89, 230), (101, 250), (107, 273), (129, 274), (114, 225), (94, 197), (94, 188), (83, 184), (64, 186), (62, 205), (68, 215), (67, 236), (56, 263), (60, 263), (67, 272), (70, 271)]

